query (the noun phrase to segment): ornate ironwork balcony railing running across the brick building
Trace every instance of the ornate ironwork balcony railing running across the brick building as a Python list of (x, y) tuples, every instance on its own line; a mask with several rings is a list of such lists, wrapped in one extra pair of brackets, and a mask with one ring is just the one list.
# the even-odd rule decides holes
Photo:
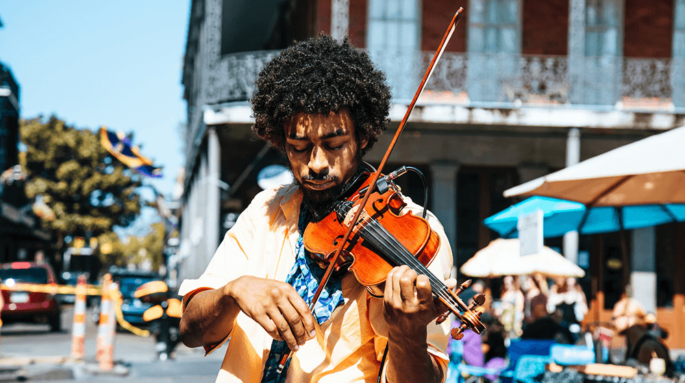
[[(210, 75), (215, 86), (208, 99), (216, 103), (249, 99), (253, 79), (276, 53), (224, 56), (223, 73)], [(412, 99), (432, 56), (432, 52), (371, 52), (399, 103)], [(446, 52), (420, 102), (685, 112), (685, 60)]]

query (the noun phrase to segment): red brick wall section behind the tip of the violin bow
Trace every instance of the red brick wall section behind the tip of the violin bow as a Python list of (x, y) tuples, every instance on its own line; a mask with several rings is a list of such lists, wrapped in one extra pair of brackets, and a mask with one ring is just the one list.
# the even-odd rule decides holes
[(423, 8), (421, 8), (423, 15), (421, 50), (435, 51), (438, 49), (440, 41), (442, 41), (443, 36), (445, 36), (445, 30), (447, 29), (449, 22), (452, 21), (454, 12), (457, 12), (460, 6), (464, 7), (464, 14), (462, 14), (462, 18), (457, 24), (445, 51), (466, 51), (466, 25), (469, 23), (468, 1), (466, 0), (458, 1), (456, 4), (444, 0), (423, 0)]

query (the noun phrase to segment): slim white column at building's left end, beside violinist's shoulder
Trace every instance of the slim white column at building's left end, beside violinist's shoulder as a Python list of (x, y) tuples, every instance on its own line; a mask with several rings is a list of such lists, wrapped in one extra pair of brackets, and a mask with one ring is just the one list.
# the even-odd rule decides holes
[(205, 240), (207, 243), (208, 257), (214, 255), (216, 247), (219, 247), (219, 225), (221, 212), (221, 190), (219, 181), (221, 180), (221, 144), (216, 128), (210, 127), (207, 130), (207, 182), (206, 182), (206, 225)]

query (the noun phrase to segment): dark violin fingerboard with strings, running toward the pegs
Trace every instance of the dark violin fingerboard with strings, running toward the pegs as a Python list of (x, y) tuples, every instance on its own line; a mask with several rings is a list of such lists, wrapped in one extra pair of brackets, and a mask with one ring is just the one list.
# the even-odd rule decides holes
[(386, 256), (392, 258), (395, 263), (407, 264), (408, 266), (412, 267), (414, 271), (419, 271), (425, 274), (428, 277), (436, 296), (443, 298), (445, 301), (456, 304), (456, 301), (454, 301), (452, 295), (447, 292), (447, 286), (445, 286), (442, 281), (438, 280), (438, 278), (435, 277), (435, 275), (433, 275), (433, 273), (431, 273), (427, 267), (419, 262), (419, 260), (417, 260), (406, 247), (404, 247), (401, 243), (399, 243), (399, 241), (391, 236), (386, 228), (380, 225), (380, 223), (377, 221), (368, 222), (364, 227), (362, 227), (361, 234), (362, 238), (369, 240), (369, 242), (371, 242), (377, 248), (383, 250), (385, 247), (386, 252), (389, 253), (386, 254)]

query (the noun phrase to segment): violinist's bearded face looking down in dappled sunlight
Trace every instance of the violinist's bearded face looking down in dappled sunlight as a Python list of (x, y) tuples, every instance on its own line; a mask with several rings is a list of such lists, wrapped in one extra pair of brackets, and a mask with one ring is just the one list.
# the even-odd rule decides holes
[(361, 161), (354, 123), (347, 110), (331, 114), (299, 112), (285, 123), (286, 155), (304, 197), (325, 203), (340, 193)]

